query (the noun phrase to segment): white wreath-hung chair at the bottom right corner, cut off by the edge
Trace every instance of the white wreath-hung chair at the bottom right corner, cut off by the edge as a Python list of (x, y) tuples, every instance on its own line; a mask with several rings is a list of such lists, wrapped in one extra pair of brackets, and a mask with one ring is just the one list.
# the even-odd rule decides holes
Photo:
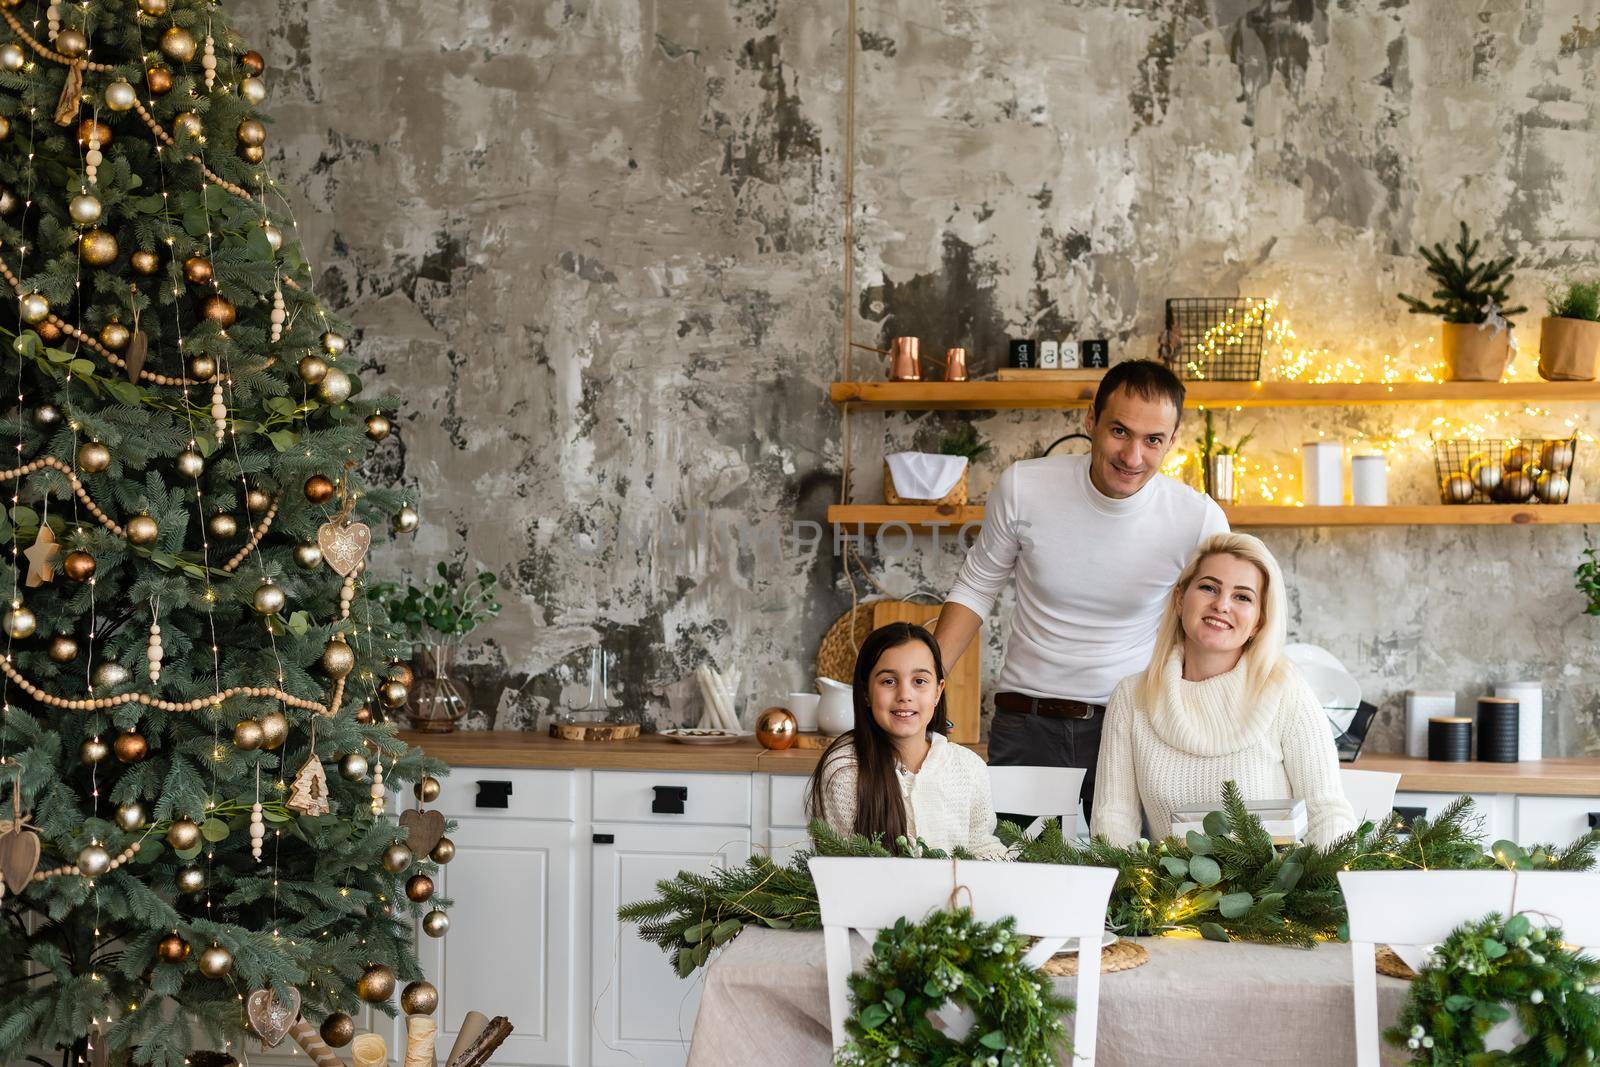
[(1342, 870), (1339, 889), (1350, 921), (1357, 1067), (1379, 1067), (1376, 944), (1416, 960), (1410, 947), (1437, 945), (1461, 923), (1490, 912), (1542, 912), (1560, 920), (1566, 941), (1586, 947), (1600, 942), (1600, 915), (1594, 909), (1594, 901), (1600, 899), (1600, 873)]

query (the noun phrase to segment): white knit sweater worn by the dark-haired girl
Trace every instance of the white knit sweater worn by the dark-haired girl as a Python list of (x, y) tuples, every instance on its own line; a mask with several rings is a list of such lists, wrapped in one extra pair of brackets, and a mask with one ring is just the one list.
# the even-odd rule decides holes
[[(933, 745), (922, 769), (907, 771), (899, 761), (901, 798), (906, 801), (906, 837), (928, 848), (965, 848), (979, 859), (1005, 859), (995, 837), (995, 809), (989, 795), (989, 768), (971, 749), (931, 734)], [(822, 768), (822, 819), (840, 833), (856, 825), (856, 749), (840, 745)], [(893, 846), (893, 841), (885, 841)]]

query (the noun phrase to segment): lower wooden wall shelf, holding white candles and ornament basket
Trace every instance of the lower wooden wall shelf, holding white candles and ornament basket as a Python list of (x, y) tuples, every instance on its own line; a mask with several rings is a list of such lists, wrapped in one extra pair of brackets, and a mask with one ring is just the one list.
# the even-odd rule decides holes
[[(1600, 504), (1416, 504), (1392, 507), (1224, 507), (1235, 530), (1254, 526), (1552, 526), (1600, 523)], [(909, 504), (834, 504), (827, 522), (875, 533), (888, 523), (915, 531), (942, 525), (954, 534), (965, 523), (982, 523), (981, 504), (917, 507)]]

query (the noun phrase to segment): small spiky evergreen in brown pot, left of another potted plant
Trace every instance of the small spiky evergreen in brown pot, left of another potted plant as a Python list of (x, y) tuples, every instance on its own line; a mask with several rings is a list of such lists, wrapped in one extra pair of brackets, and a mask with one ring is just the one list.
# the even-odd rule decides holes
[(1427, 261), (1427, 274), (1438, 285), (1432, 299), (1400, 294), (1413, 315), (1443, 318), (1445, 365), (1451, 381), (1498, 382), (1510, 366), (1510, 317), (1526, 307), (1510, 307), (1507, 290), (1512, 283), (1512, 256), (1478, 259), (1478, 238), (1467, 224), (1454, 250), (1438, 242), (1418, 251)]

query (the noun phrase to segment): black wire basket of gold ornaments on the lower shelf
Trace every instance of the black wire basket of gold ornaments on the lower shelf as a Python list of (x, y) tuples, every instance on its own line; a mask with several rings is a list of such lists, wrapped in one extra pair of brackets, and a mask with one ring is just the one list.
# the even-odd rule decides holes
[(1576, 461), (1576, 437), (1434, 442), (1445, 504), (1565, 504)]

